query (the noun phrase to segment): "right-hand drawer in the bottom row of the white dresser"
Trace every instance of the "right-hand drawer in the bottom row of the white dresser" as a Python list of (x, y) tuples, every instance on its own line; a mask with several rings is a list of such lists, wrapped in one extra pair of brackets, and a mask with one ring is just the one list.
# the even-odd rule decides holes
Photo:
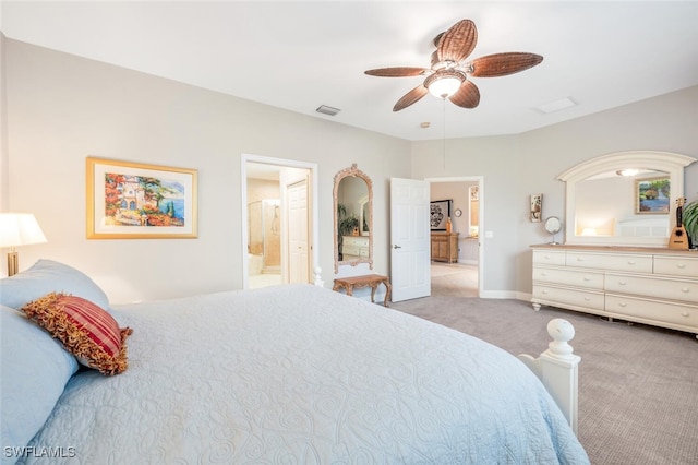
[(671, 325), (690, 332), (698, 331), (698, 307), (696, 306), (667, 303), (606, 294), (605, 309), (612, 313), (634, 317), (636, 320), (657, 322), (660, 326)]

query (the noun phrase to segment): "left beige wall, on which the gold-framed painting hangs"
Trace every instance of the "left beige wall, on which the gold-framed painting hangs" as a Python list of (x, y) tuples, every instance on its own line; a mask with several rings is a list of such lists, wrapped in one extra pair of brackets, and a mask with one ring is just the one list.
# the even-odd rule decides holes
[[(375, 191), (374, 270), (388, 273), (388, 179), (409, 177), (408, 142), (11, 39), (4, 49), (3, 206), (33, 212), (48, 238), (22, 248), (21, 269), (39, 258), (65, 262), (113, 302), (240, 288), (244, 153), (317, 164), (317, 255), (328, 286), (333, 177), (357, 163)], [(88, 155), (197, 169), (198, 239), (87, 240)]]

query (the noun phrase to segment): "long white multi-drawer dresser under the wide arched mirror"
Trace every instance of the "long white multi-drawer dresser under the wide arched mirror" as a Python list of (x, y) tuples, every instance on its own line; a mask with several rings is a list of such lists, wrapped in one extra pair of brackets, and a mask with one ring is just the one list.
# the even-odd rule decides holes
[(532, 246), (531, 302), (698, 334), (698, 252)]

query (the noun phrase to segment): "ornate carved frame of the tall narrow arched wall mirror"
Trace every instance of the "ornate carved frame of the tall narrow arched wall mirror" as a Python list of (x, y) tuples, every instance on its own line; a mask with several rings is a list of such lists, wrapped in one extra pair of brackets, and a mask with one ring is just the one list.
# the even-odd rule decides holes
[[(339, 195), (339, 184), (342, 179), (353, 177), (360, 178), (366, 183), (368, 190), (368, 200), (365, 196), (357, 199), (357, 201), (361, 204), (361, 212), (357, 213), (357, 216), (360, 218), (359, 224), (359, 236), (358, 237), (368, 237), (369, 240), (369, 257), (361, 257), (352, 260), (339, 260), (339, 228), (338, 228), (338, 195)], [(357, 168), (357, 164), (352, 164), (351, 167), (345, 168), (341, 171), (335, 175), (335, 188), (333, 191), (333, 207), (334, 207), (334, 231), (335, 231), (335, 273), (339, 272), (340, 265), (351, 265), (357, 266), (359, 263), (368, 263), (369, 267), (373, 270), (373, 182), (371, 178), (359, 168)], [(364, 212), (363, 205), (368, 204), (368, 211)], [(366, 215), (368, 214), (368, 215)], [(368, 216), (368, 218), (366, 218)], [(366, 222), (369, 230), (368, 234), (364, 231), (363, 222)]]

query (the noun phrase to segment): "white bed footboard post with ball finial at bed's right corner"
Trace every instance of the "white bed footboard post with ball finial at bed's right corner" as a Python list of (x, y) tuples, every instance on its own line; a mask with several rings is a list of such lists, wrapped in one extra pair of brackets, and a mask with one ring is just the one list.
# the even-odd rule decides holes
[(575, 337), (575, 329), (567, 320), (556, 318), (547, 323), (547, 334), (553, 338), (547, 350), (539, 358), (524, 354), (519, 359), (538, 375), (577, 434), (581, 358), (573, 354), (569, 345)]

